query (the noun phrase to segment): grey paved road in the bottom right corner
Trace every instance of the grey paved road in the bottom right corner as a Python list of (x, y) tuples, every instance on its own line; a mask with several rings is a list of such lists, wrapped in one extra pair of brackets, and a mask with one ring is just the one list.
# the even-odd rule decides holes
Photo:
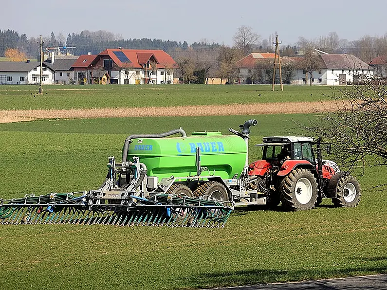
[(217, 290), (387, 290), (387, 275), (327, 279), (296, 283), (260, 284)]

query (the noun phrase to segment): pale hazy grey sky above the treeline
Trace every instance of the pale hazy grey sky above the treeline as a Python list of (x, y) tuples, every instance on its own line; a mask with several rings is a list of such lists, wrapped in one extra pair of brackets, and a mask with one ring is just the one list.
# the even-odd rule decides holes
[[(355, 40), (387, 32), (386, 0), (0, 0), (0, 29), (27, 36), (67, 37), (82, 30), (107, 30), (127, 38), (186, 40), (232, 45), (238, 27), (261, 39), (278, 33), (283, 44), (337, 32)], [(369, 3), (369, 5), (368, 5)], [(275, 6), (276, 5), (276, 6)], [(6, 9), (4, 9), (6, 7)]]

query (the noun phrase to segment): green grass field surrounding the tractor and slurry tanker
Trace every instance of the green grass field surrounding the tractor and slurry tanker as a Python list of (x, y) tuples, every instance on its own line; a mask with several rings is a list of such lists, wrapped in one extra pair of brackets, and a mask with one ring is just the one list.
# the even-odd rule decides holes
[[(226, 132), (255, 117), (263, 135), (299, 134), (308, 115), (125, 118), (0, 125), (2, 197), (95, 188), (131, 133)], [(313, 116), (311, 116), (313, 118)], [(224, 229), (0, 226), (0, 288), (194, 289), (386, 273), (387, 170), (366, 169), (357, 208), (236, 210)]]

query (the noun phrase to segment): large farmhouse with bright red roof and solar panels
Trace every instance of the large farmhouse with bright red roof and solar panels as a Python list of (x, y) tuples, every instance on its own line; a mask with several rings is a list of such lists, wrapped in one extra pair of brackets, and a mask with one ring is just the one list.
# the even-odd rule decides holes
[(93, 78), (95, 72), (107, 72), (111, 84), (159, 85), (173, 83), (176, 67), (173, 58), (162, 50), (106, 49), (87, 69), (88, 78)]

